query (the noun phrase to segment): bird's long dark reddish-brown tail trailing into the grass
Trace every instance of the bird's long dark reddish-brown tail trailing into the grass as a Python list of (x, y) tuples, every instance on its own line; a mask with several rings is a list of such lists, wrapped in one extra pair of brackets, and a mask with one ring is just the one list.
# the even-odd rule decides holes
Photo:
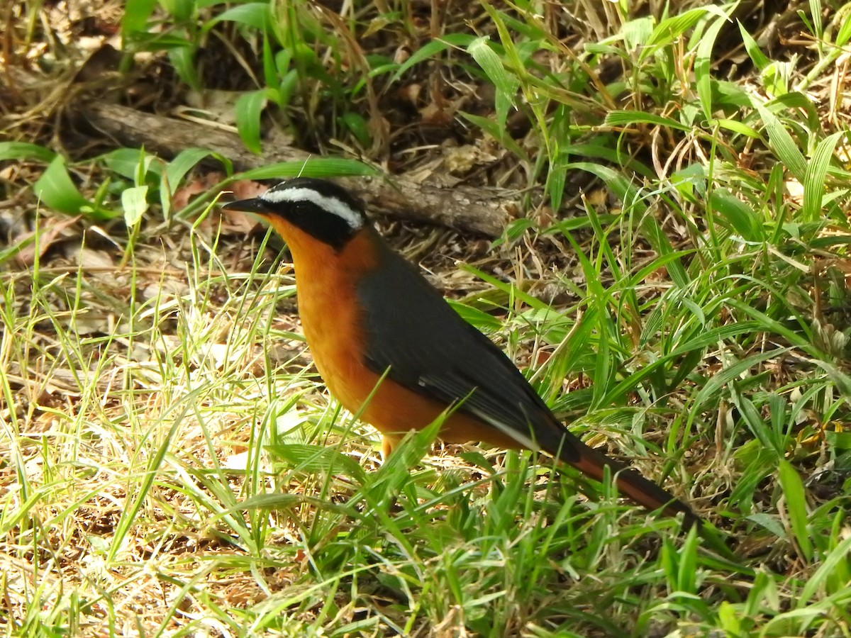
[[(568, 442), (565, 441), (564, 444), (568, 445)], [(677, 516), (682, 512), (684, 515), (683, 528), (686, 530), (693, 525), (700, 527), (702, 524), (703, 521), (700, 520), (700, 516), (694, 514), (687, 504), (677, 500), (671, 493), (668, 493), (653, 481), (648, 481), (635, 470), (630, 470), (624, 464), (609, 459), (608, 456), (598, 452), (593, 447), (586, 446), (579, 439), (574, 441), (574, 449), (566, 452), (561, 455), (565, 461), (583, 474), (597, 479), (597, 481), (603, 480), (603, 469), (608, 465), (612, 475), (615, 476), (615, 485), (617, 485), (620, 493), (625, 494), (648, 510), (662, 510), (665, 516)]]

